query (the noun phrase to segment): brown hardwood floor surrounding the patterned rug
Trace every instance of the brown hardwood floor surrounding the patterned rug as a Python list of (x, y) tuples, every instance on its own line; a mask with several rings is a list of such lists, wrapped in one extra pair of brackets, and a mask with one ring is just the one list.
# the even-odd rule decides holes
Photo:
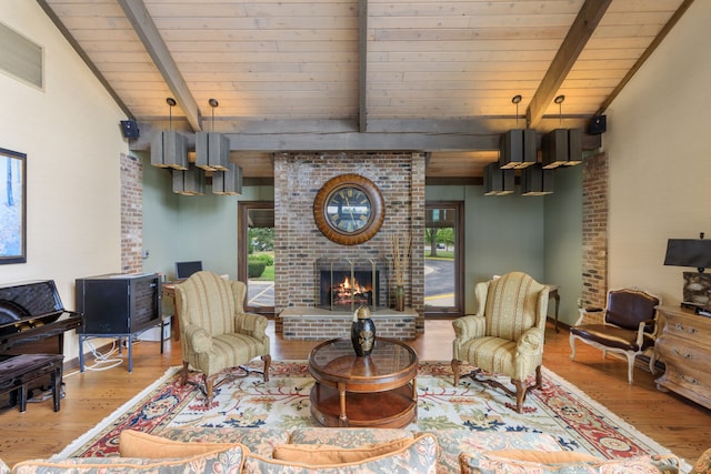
[[(317, 341), (283, 341), (273, 333), (270, 322), (271, 353), (274, 360), (304, 360)], [(453, 337), (451, 322), (428, 321), (425, 332), (410, 344), (420, 360), (450, 361)], [(118, 354), (117, 354), (118, 355)], [(639, 431), (693, 462), (708, 447), (711, 411), (674, 394), (657, 390), (654, 376), (641, 369), (634, 371), (634, 383), (627, 383), (627, 364), (584, 344), (577, 345), (575, 361), (570, 361), (568, 331), (555, 333), (547, 329), (543, 364), (570, 381), (592, 399), (608, 406)], [(140, 342), (133, 347), (133, 372), (128, 373), (126, 351), (123, 362), (106, 371), (67, 371), (66, 397), (61, 410), (52, 411), (51, 400), (0, 412), (0, 457), (12, 466), (18, 461), (48, 457), (90, 430), (116, 409), (153, 382), (168, 367), (179, 365), (180, 345)], [(91, 365), (91, 359), (88, 365)]]

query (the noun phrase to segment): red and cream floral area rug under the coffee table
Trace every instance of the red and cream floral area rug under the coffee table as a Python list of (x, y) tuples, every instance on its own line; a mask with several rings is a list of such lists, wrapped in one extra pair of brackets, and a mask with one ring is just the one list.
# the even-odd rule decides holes
[[(192, 379), (197, 382), (199, 375)], [(521, 414), (500, 390), (468, 377), (457, 387), (452, 381), (449, 363), (420, 363), (418, 420), (408, 430), (548, 433), (567, 450), (608, 458), (669, 453), (549, 370), (543, 369), (543, 387), (529, 394)], [(126, 428), (159, 434), (179, 426), (316, 426), (309, 410), (312, 385), (306, 362), (274, 362), (268, 383), (257, 374), (231, 379), (208, 410), (202, 393), (190, 384), (181, 386), (173, 367), (54, 457), (117, 455), (118, 436)]]

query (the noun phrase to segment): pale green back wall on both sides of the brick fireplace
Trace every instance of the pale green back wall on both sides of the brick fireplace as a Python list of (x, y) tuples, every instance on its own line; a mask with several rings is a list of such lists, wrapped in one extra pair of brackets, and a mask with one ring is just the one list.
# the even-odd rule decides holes
[[(170, 172), (143, 159), (143, 270), (173, 278), (174, 262), (237, 278), (237, 208), (240, 200), (273, 201), (272, 186), (246, 186), (241, 196), (171, 191)], [(564, 173), (564, 175), (562, 175)], [(559, 175), (562, 178), (559, 179)], [(465, 311), (475, 311), (478, 282), (512, 270), (561, 286), (561, 321), (574, 321), (581, 273), (581, 167), (557, 174), (549, 196), (485, 196), (481, 186), (428, 186), (428, 201), (464, 201)], [(552, 307), (549, 311), (552, 315)]]

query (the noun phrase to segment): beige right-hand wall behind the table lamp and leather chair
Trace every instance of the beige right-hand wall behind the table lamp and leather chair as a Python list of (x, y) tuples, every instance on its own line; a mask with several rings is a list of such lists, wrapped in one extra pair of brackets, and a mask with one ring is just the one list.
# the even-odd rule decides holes
[(667, 240), (711, 239), (711, 2), (694, 2), (607, 111), (609, 284), (679, 304)]

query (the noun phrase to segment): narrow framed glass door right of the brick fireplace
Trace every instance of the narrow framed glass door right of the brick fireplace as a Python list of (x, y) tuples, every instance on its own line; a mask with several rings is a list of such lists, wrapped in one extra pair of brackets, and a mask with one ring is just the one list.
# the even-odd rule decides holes
[(461, 201), (425, 204), (425, 316), (463, 314), (463, 210)]

